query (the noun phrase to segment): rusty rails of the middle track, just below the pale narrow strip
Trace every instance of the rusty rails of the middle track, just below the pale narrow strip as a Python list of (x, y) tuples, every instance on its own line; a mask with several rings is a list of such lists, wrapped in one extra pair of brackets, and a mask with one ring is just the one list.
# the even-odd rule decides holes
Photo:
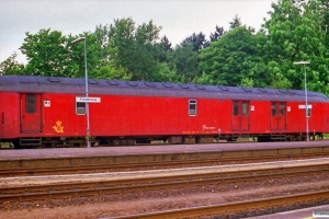
[[(1, 187), (0, 203), (132, 193), (132, 192), (141, 192), (141, 191), (179, 188), (179, 187), (188, 187), (188, 186), (204, 186), (204, 185), (223, 184), (223, 183), (249, 182), (249, 181), (269, 180), (271, 177), (272, 178), (287, 177), (287, 176), (292, 177), (292, 176), (303, 176), (309, 174), (329, 173), (329, 164), (326, 164), (324, 166), (321, 165), (315, 165), (315, 166), (318, 166), (319, 169), (306, 170), (305, 166), (299, 166), (298, 168), (299, 170), (296, 170), (296, 168), (295, 169), (286, 168), (286, 170), (290, 170), (291, 172), (286, 172), (286, 171), (282, 172), (284, 168), (276, 168), (276, 169), (271, 169), (271, 171), (280, 170), (281, 173), (273, 173), (271, 171), (270, 173), (268, 173), (269, 170), (263, 170), (263, 171), (258, 170), (258, 174), (256, 175), (254, 170), (253, 171), (249, 170), (249, 171), (232, 171), (231, 174), (234, 175), (228, 175), (228, 176), (220, 176), (220, 173), (194, 174), (194, 175), (190, 174), (190, 175), (179, 175), (179, 176), (160, 176), (160, 177), (155, 176), (155, 177), (146, 177), (146, 178), (131, 178), (131, 180), (107, 181), (107, 182), (105, 181), (105, 182), (35, 185), (35, 186), (24, 186), (24, 187)], [(151, 182), (154, 184), (151, 184)], [(160, 182), (160, 183), (155, 183), (155, 182)], [(45, 193), (45, 191), (48, 192)], [(23, 193), (23, 194), (16, 194), (16, 193)]]

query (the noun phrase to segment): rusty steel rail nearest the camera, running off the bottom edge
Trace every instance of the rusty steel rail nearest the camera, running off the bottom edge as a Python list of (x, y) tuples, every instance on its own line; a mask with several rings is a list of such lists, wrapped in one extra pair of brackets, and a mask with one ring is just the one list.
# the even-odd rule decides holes
[(129, 215), (129, 216), (106, 217), (106, 219), (128, 219), (128, 218), (170, 219), (170, 218), (189, 218), (189, 217), (227, 215), (234, 212), (241, 212), (241, 211), (246, 212), (246, 211), (257, 210), (257, 209), (287, 206), (296, 203), (300, 204), (306, 201), (317, 201), (319, 199), (328, 199), (328, 198), (329, 198), (329, 191), (319, 191), (313, 193), (294, 194), (287, 196), (262, 198), (262, 199), (254, 199), (254, 200), (247, 200), (247, 201), (198, 206), (198, 207), (164, 210), (164, 211), (157, 211), (157, 212), (137, 214), (137, 215)]

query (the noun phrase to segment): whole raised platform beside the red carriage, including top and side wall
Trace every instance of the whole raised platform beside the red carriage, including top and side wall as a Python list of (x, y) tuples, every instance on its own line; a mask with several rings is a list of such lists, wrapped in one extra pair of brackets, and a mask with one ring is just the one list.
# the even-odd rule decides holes
[(329, 141), (154, 145), (135, 147), (0, 150), (0, 170), (156, 163), (227, 158), (328, 155)]

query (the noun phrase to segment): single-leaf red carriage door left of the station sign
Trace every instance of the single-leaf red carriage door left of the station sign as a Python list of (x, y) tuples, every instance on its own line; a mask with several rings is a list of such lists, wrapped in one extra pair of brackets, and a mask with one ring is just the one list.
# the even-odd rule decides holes
[(21, 94), (21, 132), (42, 132), (41, 94)]

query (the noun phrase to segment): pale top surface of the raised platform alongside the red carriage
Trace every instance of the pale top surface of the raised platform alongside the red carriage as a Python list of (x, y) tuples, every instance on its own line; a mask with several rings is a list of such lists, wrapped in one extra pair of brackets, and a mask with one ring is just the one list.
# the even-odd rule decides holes
[(293, 142), (230, 142), (206, 145), (150, 145), (131, 147), (92, 147), (92, 148), (50, 148), (0, 150), (0, 160), (68, 158), (68, 157), (105, 157), (105, 155), (140, 155), (171, 154), (219, 151), (250, 151), (273, 149), (298, 149), (329, 147), (329, 140), (293, 141)]

